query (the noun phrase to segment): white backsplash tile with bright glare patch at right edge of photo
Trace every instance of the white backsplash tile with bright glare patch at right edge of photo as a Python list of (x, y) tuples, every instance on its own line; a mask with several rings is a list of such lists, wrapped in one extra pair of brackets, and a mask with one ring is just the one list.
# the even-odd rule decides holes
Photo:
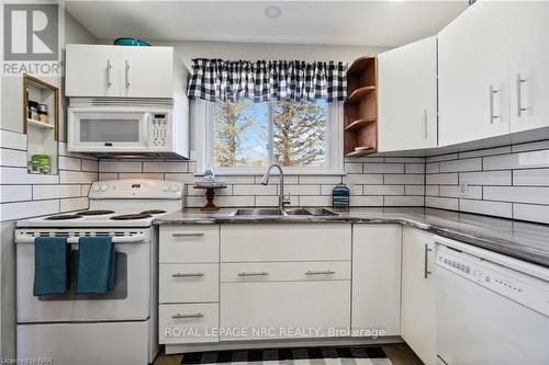
[(484, 170), (548, 168), (549, 149), (483, 157)]

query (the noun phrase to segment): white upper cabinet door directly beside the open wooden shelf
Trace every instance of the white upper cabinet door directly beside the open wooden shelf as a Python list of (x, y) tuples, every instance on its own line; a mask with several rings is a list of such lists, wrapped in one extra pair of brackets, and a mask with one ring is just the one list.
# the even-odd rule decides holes
[(437, 39), (378, 56), (380, 151), (437, 146)]

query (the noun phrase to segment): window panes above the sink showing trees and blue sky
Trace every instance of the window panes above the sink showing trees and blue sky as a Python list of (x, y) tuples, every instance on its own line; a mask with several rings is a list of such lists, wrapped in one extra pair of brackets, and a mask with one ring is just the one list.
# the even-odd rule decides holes
[[(326, 163), (325, 101), (219, 102), (213, 107), (217, 167), (321, 167)], [(269, 132), (272, 145), (269, 144)]]

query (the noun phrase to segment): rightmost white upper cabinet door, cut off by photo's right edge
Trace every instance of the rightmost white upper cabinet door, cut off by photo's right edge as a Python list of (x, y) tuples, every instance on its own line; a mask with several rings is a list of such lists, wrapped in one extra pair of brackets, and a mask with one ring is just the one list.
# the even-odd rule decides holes
[(549, 126), (548, 2), (505, 2), (509, 20), (511, 132)]

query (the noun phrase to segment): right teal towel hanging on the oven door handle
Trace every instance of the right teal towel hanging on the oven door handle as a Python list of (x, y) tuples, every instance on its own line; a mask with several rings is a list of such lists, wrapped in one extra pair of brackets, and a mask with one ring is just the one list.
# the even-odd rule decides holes
[(77, 294), (105, 294), (114, 287), (114, 246), (111, 237), (80, 237)]

